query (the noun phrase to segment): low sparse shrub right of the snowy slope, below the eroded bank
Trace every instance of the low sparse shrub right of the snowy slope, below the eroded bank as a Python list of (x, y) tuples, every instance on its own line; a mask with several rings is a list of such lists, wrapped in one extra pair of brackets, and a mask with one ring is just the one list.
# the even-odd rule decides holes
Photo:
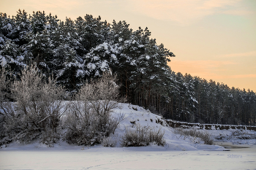
[(186, 139), (190, 136), (192, 142), (197, 143), (199, 141), (203, 141), (204, 144), (213, 144), (213, 139), (211, 139), (210, 134), (207, 131), (200, 131), (197, 128), (174, 128), (174, 134), (180, 135), (179, 137), (183, 137)]

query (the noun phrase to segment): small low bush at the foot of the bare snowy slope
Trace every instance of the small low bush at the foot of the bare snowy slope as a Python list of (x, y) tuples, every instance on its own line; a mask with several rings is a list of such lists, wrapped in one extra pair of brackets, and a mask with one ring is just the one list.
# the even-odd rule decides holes
[(121, 146), (123, 147), (141, 147), (148, 144), (165, 145), (164, 132), (161, 128), (151, 128), (150, 126), (135, 125), (135, 129), (127, 129), (124, 136), (121, 137)]

